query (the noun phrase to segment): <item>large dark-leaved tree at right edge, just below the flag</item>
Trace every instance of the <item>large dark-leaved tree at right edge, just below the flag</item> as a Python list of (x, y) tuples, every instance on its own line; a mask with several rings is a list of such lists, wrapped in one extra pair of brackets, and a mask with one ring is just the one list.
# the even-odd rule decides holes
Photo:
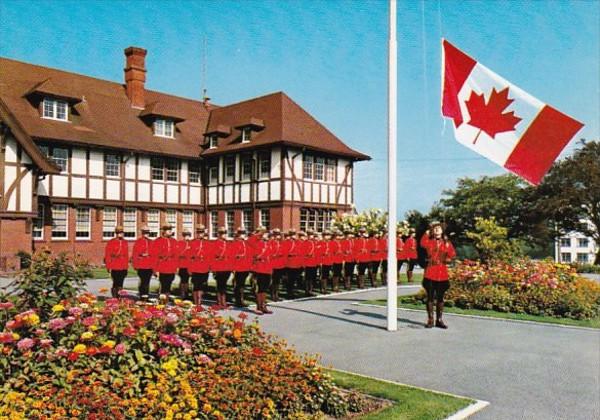
[[(581, 140), (531, 194), (531, 214), (555, 235), (578, 231), (600, 245), (600, 141)], [(600, 249), (594, 264), (600, 265)]]

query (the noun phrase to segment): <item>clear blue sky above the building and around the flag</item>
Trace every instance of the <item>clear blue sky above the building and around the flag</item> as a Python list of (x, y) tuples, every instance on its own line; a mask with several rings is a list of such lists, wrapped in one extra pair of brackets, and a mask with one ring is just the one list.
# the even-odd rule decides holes
[[(387, 25), (384, 0), (2, 0), (0, 56), (120, 82), (133, 45), (152, 90), (218, 105), (284, 91), (372, 157), (355, 166), (363, 210), (387, 206)], [(600, 139), (600, 1), (399, 1), (397, 29), (400, 217), (504, 173), (441, 117), (441, 38), (583, 122), (563, 156)]]

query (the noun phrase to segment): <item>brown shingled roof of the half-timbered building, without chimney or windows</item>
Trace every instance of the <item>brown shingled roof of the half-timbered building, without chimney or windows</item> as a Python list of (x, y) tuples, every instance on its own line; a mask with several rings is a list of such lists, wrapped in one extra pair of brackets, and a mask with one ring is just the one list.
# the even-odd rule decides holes
[[(71, 121), (40, 118), (38, 102), (44, 94), (71, 102)], [(0, 100), (34, 141), (184, 158), (281, 143), (369, 159), (346, 146), (283, 92), (218, 107), (146, 89), (146, 108), (137, 109), (131, 106), (124, 84), (0, 58)], [(175, 139), (154, 136), (151, 116), (172, 117)], [(239, 139), (242, 126), (258, 130), (249, 143)], [(216, 149), (204, 147), (204, 135), (211, 131), (222, 137)]]

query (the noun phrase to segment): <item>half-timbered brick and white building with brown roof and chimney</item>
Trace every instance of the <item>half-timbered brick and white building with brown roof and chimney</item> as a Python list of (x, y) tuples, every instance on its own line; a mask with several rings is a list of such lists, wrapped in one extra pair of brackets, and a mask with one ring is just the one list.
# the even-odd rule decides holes
[(278, 92), (228, 106), (0, 58), (0, 271), (47, 246), (100, 264), (116, 225), (322, 230), (353, 204), (346, 146)]

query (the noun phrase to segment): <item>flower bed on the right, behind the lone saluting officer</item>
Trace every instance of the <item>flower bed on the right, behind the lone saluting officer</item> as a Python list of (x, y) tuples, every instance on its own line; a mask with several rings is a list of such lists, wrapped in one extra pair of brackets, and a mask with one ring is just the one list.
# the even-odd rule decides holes
[[(423, 302), (424, 291), (415, 300)], [(600, 284), (552, 261), (462, 261), (450, 269), (446, 303), (464, 309), (592, 319), (600, 316)]]

